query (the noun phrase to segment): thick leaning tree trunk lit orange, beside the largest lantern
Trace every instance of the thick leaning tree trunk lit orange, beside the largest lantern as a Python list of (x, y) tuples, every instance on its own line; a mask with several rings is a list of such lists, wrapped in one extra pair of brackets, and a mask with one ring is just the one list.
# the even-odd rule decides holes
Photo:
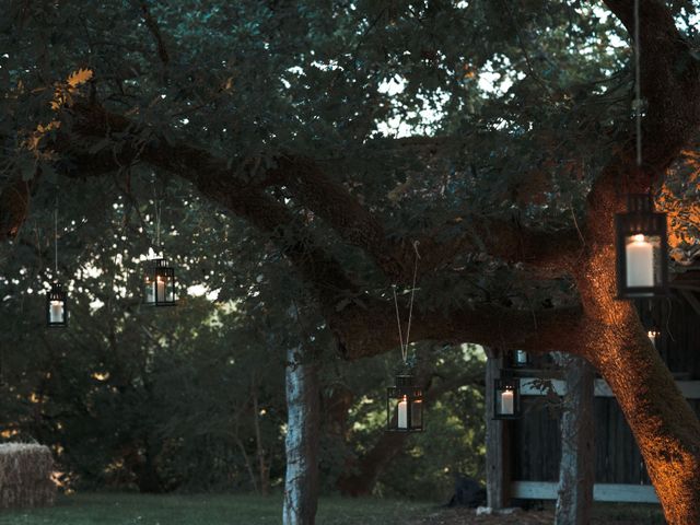
[[(605, 206), (600, 201), (597, 206)], [(607, 222), (596, 225), (609, 228)], [(572, 346), (615, 394), (666, 521), (700, 524), (700, 421), (649, 340), (633, 304), (614, 300), (612, 246), (592, 248), (576, 272), (586, 329)]]

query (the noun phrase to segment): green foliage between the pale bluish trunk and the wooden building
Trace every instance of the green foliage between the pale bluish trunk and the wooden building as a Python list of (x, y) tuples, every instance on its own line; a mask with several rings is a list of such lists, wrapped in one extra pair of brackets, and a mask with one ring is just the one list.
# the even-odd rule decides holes
[[(425, 431), (408, 436), (386, 469), (378, 470), (374, 493), (385, 497), (447, 501), (454, 476), (485, 479), (485, 354), (472, 346), (416, 345), (413, 373), (425, 390)], [(353, 394), (345, 439), (338, 439), (326, 420), (322, 444), (325, 487), (355, 471), (386, 430), (386, 387), (394, 384), (398, 351), (326, 372), (332, 382)], [(431, 393), (432, 390), (432, 393)], [(393, 451), (385, 451), (387, 454)]]

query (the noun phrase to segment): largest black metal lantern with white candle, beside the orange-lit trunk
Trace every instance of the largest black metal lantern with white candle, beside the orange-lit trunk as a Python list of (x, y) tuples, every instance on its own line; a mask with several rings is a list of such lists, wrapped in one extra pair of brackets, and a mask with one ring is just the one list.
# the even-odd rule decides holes
[(666, 213), (654, 211), (651, 195), (630, 195), (627, 213), (615, 215), (617, 299), (668, 294)]

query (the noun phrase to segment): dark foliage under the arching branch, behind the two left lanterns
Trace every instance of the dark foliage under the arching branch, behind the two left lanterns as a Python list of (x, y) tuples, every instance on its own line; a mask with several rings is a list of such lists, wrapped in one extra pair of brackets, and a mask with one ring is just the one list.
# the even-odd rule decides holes
[[(152, 194), (144, 186), (151, 191), (132, 189)], [(167, 210), (172, 196), (159, 196), (173, 224), (163, 233), (165, 254), (183, 285), (179, 307), (152, 311), (140, 305), (139, 259), (153, 234), (148, 197), (85, 183), (80, 199), (98, 206), (68, 221), (62, 210), (78, 209), (71, 197), (59, 200), (58, 276), (44, 268), (52, 267), (48, 213), (5, 254), (4, 276), (14, 277), (0, 278), (4, 436), (51, 445), (72, 487), (248, 490), (259, 485), (247, 466), (258, 444), (272, 467), (265, 476), (279, 480), (285, 419), (279, 335), (289, 327), (280, 325), (283, 312), (249, 300), (242, 281), (262, 282), (245, 272), (268, 271), (265, 250), (250, 262), (228, 238), (235, 232), (249, 247), (245, 226), (215, 213), (202, 220), (194, 195), (177, 195), (190, 203), (177, 212)], [(67, 330), (44, 327), (42, 291), (56, 277), (70, 293)], [(188, 296), (187, 285), (214, 295), (225, 287), (219, 295), (226, 301)]]

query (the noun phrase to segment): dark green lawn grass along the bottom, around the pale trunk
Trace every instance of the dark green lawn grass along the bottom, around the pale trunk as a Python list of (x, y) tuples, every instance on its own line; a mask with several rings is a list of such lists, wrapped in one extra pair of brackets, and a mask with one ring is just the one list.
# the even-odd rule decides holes
[[(380, 499), (323, 498), (318, 525), (399, 525), (435, 504)], [(54, 508), (2, 511), (0, 525), (277, 525), (281, 497), (80, 493)]]

